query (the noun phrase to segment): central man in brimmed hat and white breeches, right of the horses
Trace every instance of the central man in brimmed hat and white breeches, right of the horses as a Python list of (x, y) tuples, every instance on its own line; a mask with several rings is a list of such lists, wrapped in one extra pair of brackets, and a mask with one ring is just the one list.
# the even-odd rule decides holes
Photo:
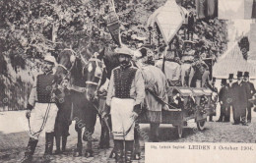
[[(116, 161), (131, 162), (134, 147), (135, 119), (141, 112), (145, 98), (145, 85), (142, 73), (132, 67), (132, 52), (127, 47), (116, 49), (120, 66), (112, 70), (106, 96), (106, 109), (102, 116), (110, 112)], [(109, 107), (110, 106), (110, 107)]]

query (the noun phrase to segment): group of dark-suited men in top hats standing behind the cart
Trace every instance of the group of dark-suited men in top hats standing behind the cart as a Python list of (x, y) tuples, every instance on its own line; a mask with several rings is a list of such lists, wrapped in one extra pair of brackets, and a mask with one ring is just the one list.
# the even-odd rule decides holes
[[(228, 82), (222, 79), (222, 88), (219, 93), (221, 104), (221, 116), (217, 122), (230, 122), (230, 110), (232, 108), (233, 125), (247, 126), (251, 123), (252, 99), (256, 90), (254, 84), (249, 81), (249, 72), (237, 72), (237, 81), (233, 82), (233, 74), (229, 74)], [(247, 116), (246, 116), (247, 115)]]

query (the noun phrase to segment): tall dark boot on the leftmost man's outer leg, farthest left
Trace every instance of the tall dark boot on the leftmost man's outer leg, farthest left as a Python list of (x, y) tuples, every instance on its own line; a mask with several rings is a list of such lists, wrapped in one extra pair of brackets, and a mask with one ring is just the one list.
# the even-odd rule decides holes
[(25, 156), (20, 161), (21, 163), (30, 163), (30, 162), (32, 162), (32, 154), (33, 154), (34, 149), (37, 145), (37, 142), (38, 142), (38, 139), (34, 139), (34, 138), (30, 137), (28, 146), (27, 146), (26, 151), (25, 151)]

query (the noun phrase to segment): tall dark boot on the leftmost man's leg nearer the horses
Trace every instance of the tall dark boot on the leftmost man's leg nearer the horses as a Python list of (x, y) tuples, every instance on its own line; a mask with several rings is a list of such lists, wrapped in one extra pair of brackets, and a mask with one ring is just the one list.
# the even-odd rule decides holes
[(52, 154), (53, 149), (53, 133), (46, 133), (45, 134), (45, 150), (42, 157), (42, 162), (48, 163), (50, 162), (50, 155)]

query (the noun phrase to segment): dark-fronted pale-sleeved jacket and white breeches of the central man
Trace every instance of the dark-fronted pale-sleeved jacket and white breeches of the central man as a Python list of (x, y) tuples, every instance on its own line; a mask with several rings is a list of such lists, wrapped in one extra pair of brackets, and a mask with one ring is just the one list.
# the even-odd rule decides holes
[(131, 65), (112, 70), (106, 96), (110, 106), (114, 139), (134, 140), (133, 107), (145, 98), (142, 73)]

